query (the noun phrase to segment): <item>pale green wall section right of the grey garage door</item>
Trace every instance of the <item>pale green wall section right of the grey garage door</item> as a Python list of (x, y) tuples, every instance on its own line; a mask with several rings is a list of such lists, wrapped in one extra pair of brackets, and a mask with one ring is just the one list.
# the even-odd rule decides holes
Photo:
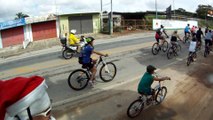
[(93, 15), (93, 33), (99, 33), (101, 30), (100, 26), (100, 15)]

